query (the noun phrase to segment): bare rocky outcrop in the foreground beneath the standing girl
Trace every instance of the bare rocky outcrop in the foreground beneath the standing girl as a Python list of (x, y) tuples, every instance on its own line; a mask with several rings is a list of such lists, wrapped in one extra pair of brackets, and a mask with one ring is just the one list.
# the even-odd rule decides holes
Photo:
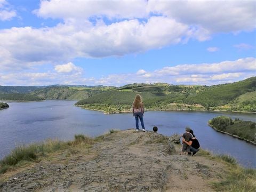
[(0, 190), (213, 191), (209, 182), (218, 180), (223, 165), (179, 155), (180, 149), (161, 134), (118, 131), (92, 148), (63, 150), (10, 175)]

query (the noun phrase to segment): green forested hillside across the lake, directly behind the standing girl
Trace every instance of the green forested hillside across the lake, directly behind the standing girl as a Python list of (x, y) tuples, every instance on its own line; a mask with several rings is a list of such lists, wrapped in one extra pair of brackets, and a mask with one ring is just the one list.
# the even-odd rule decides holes
[[(156, 110), (239, 110), (256, 111), (256, 77), (231, 84), (214, 86), (185, 86), (157, 84), (129, 84), (95, 94), (76, 105), (100, 110), (131, 108), (135, 94), (143, 97), (147, 109)], [(239, 104), (239, 105), (238, 105)], [(113, 111), (114, 110), (114, 111)]]

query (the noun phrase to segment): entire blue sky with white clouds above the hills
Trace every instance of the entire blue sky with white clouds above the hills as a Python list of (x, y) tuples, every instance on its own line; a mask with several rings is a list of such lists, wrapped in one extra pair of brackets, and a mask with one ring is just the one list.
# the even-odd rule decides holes
[(255, 29), (255, 0), (0, 0), (0, 85), (237, 82)]

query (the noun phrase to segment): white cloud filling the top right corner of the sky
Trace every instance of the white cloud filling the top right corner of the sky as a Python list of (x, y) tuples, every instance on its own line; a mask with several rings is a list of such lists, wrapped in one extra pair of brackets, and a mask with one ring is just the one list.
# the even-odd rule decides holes
[(255, 1), (150, 0), (148, 9), (187, 25), (214, 32), (252, 30), (256, 26)]

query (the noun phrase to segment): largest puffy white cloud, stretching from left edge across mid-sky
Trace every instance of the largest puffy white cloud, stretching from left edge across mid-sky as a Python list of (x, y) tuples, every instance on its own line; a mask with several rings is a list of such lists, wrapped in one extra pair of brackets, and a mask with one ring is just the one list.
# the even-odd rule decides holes
[(146, 23), (134, 19), (92, 28), (65, 24), (39, 29), (13, 27), (0, 30), (0, 47), (6, 52), (5, 59), (60, 63), (76, 57), (122, 56), (177, 44), (186, 30), (187, 26), (163, 17), (151, 17)]

